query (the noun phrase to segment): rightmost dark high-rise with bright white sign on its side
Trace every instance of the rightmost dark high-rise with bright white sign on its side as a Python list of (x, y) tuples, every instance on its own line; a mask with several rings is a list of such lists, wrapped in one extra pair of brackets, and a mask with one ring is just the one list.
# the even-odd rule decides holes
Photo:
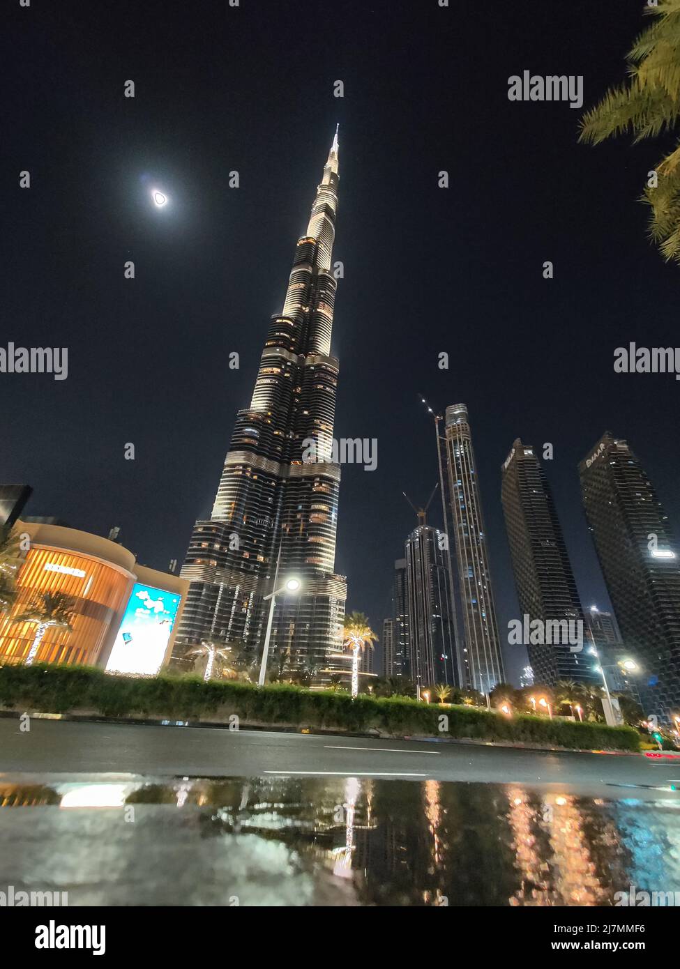
[(680, 564), (668, 516), (626, 441), (605, 432), (578, 471), (619, 629), (641, 666), (645, 713), (667, 717), (680, 705)]

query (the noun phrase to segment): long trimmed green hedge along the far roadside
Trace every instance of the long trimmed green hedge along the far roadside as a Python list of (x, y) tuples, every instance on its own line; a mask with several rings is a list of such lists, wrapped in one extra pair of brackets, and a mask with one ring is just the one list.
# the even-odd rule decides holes
[[(550, 720), (531, 714), (506, 717), (470, 706), (419, 703), (405, 697), (376, 698), (310, 691), (298, 686), (204, 682), (198, 676), (113, 676), (73, 666), (0, 667), (0, 707), (46, 713), (99, 713), (172, 720), (286, 725), (389, 735), (451, 736), (559, 746), (571, 750), (639, 750), (631, 727)], [(439, 717), (448, 729), (439, 730)]]

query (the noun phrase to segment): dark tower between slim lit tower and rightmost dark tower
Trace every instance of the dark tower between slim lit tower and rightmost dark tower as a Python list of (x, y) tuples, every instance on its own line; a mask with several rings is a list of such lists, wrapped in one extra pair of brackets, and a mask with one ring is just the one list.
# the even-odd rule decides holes
[(548, 686), (560, 679), (594, 682), (581, 601), (550, 485), (534, 448), (519, 438), (502, 465), (502, 510), (522, 619), (581, 624), (580, 650), (567, 641), (527, 644), (535, 681)]

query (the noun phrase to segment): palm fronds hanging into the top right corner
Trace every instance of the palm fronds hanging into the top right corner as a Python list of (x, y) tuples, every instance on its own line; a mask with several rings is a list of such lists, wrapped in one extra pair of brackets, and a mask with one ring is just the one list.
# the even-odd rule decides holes
[[(670, 131), (680, 117), (680, 0), (659, 0), (657, 17), (628, 53), (630, 79), (609, 90), (581, 119), (579, 141), (598, 144), (630, 130), (633, 141)], [(642, 201), (652, 208), (650, 235), (666, 260), (680, 263), (680, 144), (656, 166)], [(650, 172), (652, 175), (652, 172)]]

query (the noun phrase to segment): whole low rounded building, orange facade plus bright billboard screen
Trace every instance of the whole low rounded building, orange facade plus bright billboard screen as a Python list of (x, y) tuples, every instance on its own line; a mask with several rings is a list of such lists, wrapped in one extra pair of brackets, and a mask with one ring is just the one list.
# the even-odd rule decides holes
[(71, 629), (49, 627), (34, 662), (143, 675), (168, 663), (188, 581), (99, 535), (21, 519), (15, 527), (23, 562), (16, 603), (0, 617), (0, 666), (25, 661), (38, 624), (18, 620), (47, 592), (68, 596)]

